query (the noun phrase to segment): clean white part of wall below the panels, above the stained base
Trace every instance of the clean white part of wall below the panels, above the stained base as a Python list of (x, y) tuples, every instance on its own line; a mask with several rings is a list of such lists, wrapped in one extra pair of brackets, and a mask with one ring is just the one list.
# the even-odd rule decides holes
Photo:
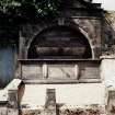
[(106, 105), (106, 90), (102, 83), (80, 84), (26, 84), (21, 105), (38, 108), (45, 105), (46, 89), (56, 89), (57, 104), (67, 106)]

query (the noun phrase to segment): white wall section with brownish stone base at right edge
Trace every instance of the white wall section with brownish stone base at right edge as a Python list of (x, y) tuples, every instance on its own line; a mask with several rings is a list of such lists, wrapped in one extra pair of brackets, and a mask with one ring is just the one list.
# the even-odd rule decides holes
[(115, 59), (103, 59), (101, 77), (108, 91), (108, 104), (106, 111), (110, 115), (115, 114)]

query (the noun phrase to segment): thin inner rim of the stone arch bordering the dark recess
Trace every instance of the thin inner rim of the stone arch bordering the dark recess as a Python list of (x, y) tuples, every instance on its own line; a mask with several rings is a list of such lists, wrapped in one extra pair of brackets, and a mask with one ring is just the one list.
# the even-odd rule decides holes
[(85, 37), (84, 41), (88, 42), (87, 44), (89, 44), (89, 48), (91, 48), (91, 58), (92, 58), (92, 59), (94, 58), (94, 51), (93, 51), (92, 43), (91, 43), (90, 37), (88, 36), (88, 33), (85, 33), (81, 27), (78, 27), (77, 25), (76, 25), (76, 26), (74, 26), (74, 25), (73, 25), (73, 26), (70, 26), (69, 23), (67, 23), (66, 25), (48, 26), (48, 27), (42, 30), (34, 38), (32, 38), (32, 42), (31, 42), (31, 44), (30, 44), (28, 47), (27, 47), (27, 58), (30, 57), (28, 54), (30, 54), (30, 49), (31, 49), (31, 46), (32, 46), (33, 41), (34, 41), (36, 37), (38, 37), (39, 35), (42, 35), (42, 33), (44, 33), (46, 30), (54, 28), (54, 27), (56, 27), (56, 26), (58, 26), (58, 27), (59, 27), (59, 26), (60, 26), (60, 27), (64, 27), (64, 26), (65, 26), (65, 27), (67, 27), (67, 28), (74, 30), (74, 31), (81, 33), (82, 36)]

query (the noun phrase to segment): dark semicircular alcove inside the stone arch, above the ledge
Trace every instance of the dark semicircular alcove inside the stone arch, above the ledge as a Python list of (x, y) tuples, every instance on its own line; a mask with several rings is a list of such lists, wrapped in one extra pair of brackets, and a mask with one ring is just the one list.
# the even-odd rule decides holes
[(53, 26), (41, 32), (31, 43), (28, 59), (37, 58), (92, 58), (88, 38), (79, 30)]

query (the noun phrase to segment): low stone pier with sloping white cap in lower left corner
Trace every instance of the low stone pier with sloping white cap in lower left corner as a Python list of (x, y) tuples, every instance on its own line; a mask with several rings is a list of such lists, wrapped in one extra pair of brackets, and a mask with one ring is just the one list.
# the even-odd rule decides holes
[(18, 90), (21, 80), (14, 79), (0, 91), (0, 115), (19, 115)]

